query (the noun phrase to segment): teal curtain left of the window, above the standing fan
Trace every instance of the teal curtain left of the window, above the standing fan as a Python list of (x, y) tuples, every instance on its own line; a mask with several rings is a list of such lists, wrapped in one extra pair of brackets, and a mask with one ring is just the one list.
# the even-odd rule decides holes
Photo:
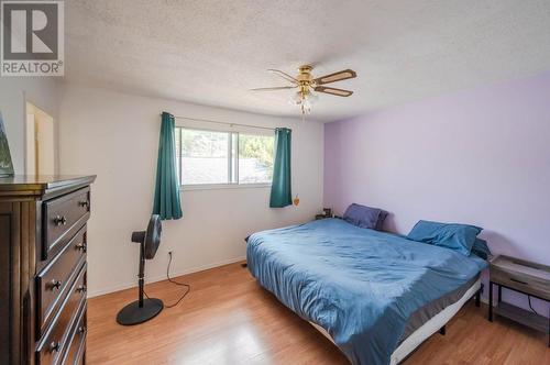
[(158, 159), (156, 163), (156, 185), (153, 214), (161, 219), (182, 218), (179, 182), (176, 169), (176, 140), (174, 135), (174, 115), (163, 112), (161, 140), (158, 142)]

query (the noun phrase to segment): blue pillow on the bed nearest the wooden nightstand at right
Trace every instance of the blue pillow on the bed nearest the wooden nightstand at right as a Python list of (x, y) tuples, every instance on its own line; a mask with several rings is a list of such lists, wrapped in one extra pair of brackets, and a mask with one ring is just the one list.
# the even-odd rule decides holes
[(475, 225), (418, 221), (407, 239), (451, 248), (470, 256), (476, 235), (481, 231), (482, 229)]

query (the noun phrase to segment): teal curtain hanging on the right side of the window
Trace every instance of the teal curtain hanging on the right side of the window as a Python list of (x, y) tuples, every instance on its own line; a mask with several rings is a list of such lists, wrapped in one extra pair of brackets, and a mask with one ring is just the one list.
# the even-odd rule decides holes
[(283, 208), (293, 203), (290, 191), (290, 145), (293, 131), (275, 129), (275, 164), (273, 166), (271, 208)]

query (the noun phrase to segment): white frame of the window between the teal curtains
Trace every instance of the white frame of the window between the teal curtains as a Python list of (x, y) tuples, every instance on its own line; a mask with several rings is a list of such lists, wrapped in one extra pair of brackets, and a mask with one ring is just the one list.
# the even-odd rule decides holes
[[(265, 136), (273, 136), (274, 132), (270, 130), (257, 130), (254, 128), (237, 128), (228, 124), (226, 128), (205, 128), (205, 126), (197, 126), (196, 123), (185, 123), (185, 124), (177, 124), (176, 129), (185, 129), (185, 130), (191, 130), (191, 131), (204, 131), (204, 132), (221, 132), (221, 133), (228, 133), (229, 134), (229, 143), (228, 143), (228, 153), (229, 156), (231, 156), (231, 150), (232, 150), (232, 144), (233, 144), (233, 134), (237, 134), (237, 148), (235, 148), (235, 182), (224, 182), (224, 184), (193, 184), (193, 185), (183, 185), (182, 184), (182, 156), (179, 156), (179, 176), (178, 176), (178, 184), (179, 185), (179, 190), (180, 191), (193, 191), (193, 190), (219, 190), (219, 189), (257, 189), (257, 188), (271, 188), (272, 182), (245, 182), (245, 184), (239, 184), (239, 135), (242, 134), (249, 134), (249, 135), (265, 135)], [(178, 131), (178, 133), (180, 133)], [(182, 134), (179, 135), (179, 154), (182, 154)], [(275, 158), (275, 156), (273, 156)], [(232, 165), (233, 158), (228, 157), (228, 179), (231, 180), (231, 175), (232, 175)]]

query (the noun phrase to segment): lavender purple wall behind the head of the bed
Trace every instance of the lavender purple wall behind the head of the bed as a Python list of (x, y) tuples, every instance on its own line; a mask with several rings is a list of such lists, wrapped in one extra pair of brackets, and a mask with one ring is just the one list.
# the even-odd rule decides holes
[(550, 73), (326, 124), (324, 206), (351, 202), (400, 233), (473, 223), (494, 253), (550, 265)]

